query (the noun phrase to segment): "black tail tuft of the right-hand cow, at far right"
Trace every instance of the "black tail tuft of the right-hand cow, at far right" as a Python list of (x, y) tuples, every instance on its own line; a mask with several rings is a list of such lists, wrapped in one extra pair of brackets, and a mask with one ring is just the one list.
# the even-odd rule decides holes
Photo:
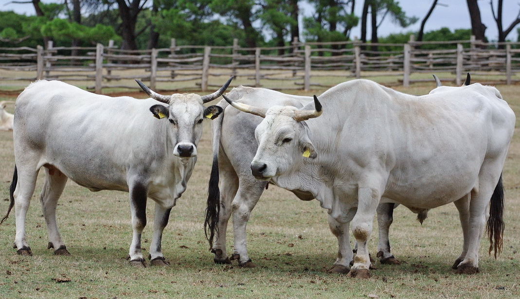
[(489, 203), (489, 218), (486, 225), (486, 231), (489, 237), (489, 254), (495, 251), (495, 259), (497, 253), (502, 251), (502, 235), (504, 233), (504, 222), (502, 216), (504, 213), (504, 185), (502, 184), (502, 174), (498, 180), (497, 187), (491, 196)]

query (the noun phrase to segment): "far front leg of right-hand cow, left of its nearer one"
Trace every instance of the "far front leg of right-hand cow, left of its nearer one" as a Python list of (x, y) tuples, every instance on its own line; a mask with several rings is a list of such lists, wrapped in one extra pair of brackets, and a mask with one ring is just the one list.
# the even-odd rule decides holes
[(329, 215), (329, 227), (332, 234), (337, 238), (338, 251), (336, 261), (327, 272), (347, 274), (350, 270), (350, 263), (354, 259), (349, 240), (349, 222), (339, 223)]

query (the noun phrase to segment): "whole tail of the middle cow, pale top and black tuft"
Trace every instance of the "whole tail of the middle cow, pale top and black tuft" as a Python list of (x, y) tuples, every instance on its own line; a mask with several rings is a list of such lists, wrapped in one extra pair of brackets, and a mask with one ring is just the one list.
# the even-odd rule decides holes
[[(219, 118), (213, 121), (213, 164), (211, 166), (210, 182), (207, 186), (207, 207), (204, 219), (204, 233), (213, 248), (215, 233), (218, 233), (218, 216), (220, 214), (220, 189), (218, 188), (218, 148), (220, 147), (220, 133), (222, 132), (222, 120), (224, 111)], [(216, 123), (215, 123), (216, 122)]]

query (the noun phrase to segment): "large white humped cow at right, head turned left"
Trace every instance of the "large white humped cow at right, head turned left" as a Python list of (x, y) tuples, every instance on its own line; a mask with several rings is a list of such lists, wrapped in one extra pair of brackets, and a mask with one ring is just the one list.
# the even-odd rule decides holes
[(367, 241), (381, 203), (413, 210), (453, 202), (464, 240), (458, 273), (478, 272), (485, 228), (489, 253), (500, 252), (502, 168), (515, 115), (495, 87), (439, 86), (412, 96), (353, 80), (315, 97), (314, 107), (229, 102), (264, 118), (251, 163), (257, 179), (309, 192), (344, 229), (352, 223), (357, 254), (348, 276), (370, 277)]

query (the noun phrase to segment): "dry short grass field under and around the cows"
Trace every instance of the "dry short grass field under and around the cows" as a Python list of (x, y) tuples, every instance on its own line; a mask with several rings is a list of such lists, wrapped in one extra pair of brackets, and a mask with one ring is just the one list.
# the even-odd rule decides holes
[[(239, 84), (233, 82), (232, 86)], [(425, 94), (434, 85), (432, 80), (396, 89)], [(497, 87), (520, 115), (520, 86)], [(319, 95), (323, 91), (292, 93)], [(140, 93), (136, 97), (145, 96)], [(0, 91), (0, 100), (15, 98), (16, 94), (2, 95)], [(276, 187), (264, 192), (248, 225), (248, 249), (257, 267), (215, 265), (202, 227), (211, 168), (211, 130), (206, 121), (199, 160), (164, 232), (162, 247), (170, 267), (137, 269), (125, 261), (132, 237), (127, 193), (93, 193), (70, 181), (58, 205), (58, 225), (72, 256), (54, 256), (46, 249), (47, 230), (38, 200), (40, 179), (27, 221), (33, 256), (18, 256), (12, 249), (14, 212), (0, 226), (0, 297), (520, 298), (519, 125), (517, 121), (503, 174), (503, 252), (495, 260), (487, 254), (489, 243), (483, 240), (477, 275), (456, 275), (451, 269), (462, 248), (459, 216), (453, 204), (430, 211), (423, 225), (404, 207), (395, 210), (390, 238), (392, 253), (401, 265), (376, 264), (378, 270), (372, 270), (369, 280), (328, 274), (326, 269), (335, 259), (337, 243), (329, 231), (326, 211), (317, 201), (297, 200), (292, 193)], [(9, 204), (13, 168), (12, 133), (0, 132), (0, 216)], [(153, 202), (149, 201), (149, 223), (143, 236), (145, 254), (151, 240), (152, 216)], [(373, 255), (376, 236), (374, 229), (369, 243)], [(231, 229), (228, 246), (232, 246)]]

